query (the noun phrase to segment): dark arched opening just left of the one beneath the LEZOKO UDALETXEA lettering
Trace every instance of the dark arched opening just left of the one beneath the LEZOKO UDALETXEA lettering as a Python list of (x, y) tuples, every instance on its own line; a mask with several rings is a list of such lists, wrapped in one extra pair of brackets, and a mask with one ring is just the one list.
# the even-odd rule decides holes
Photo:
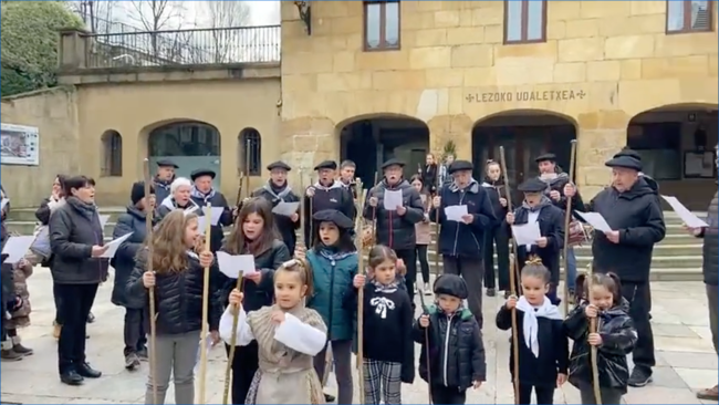
[(356, 176), (367, 188), (375, 173), (382, 178), (382, 164), (390, 158), (405, 162), (405, 177), (409, 179), (425, 164), (429, 153), (429, 128), (424, 122), (400, 115), (377, 115), (355, 118), (340, 124), (342, 160), (356, 165)]

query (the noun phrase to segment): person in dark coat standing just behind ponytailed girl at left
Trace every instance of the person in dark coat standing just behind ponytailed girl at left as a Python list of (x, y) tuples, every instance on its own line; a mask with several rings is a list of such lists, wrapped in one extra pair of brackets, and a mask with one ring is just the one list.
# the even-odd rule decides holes
[(154, 193), (155, 189), (150, 186), (150, 195), (145, 196), (145, 183), (137, 181), (133, 184), (129, 195), (132, 205), (127, 207), (127, 212), (117, 218), (117, 224), (113, 230), (113, 239), (132, 233), (117, 247), (117, 251), (111, 260), (111, 264), (115, 269), (115, 283), (111, 300), (115, 305), (125, 308), (125, 349), (123, 354), (125, 356), (125, 368), (127, 370), (138, 367), (140, 359), (147, 360), (145, 301), (132, 300), (125, 292), (129, 274), (135, 268), (135, 257), (143, 248), (147, 237), (147, 209), (154, 209), (155, 207)]

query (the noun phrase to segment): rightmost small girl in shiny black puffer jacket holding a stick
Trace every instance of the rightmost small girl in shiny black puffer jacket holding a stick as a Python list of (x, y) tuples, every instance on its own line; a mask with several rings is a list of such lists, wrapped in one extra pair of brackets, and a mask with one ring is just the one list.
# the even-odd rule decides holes
[[(582, 404), (596, 404), (594, 395), (591, 346), (597, 350), (600, 394), (604, 404), (619, 404), (627, 392), (629, 367), (626, 355), (632, 353), (637, 332), (627, 314), (629, 303), (622, 298), (619, 278), (609, 273), (576, 278), (580, 304), (564, 321), (564, 332), (574, 341), (570, 364), (570, 383), (580, 390)], [(590, 333), (590, 320), (597, 320), (597, 332)]]

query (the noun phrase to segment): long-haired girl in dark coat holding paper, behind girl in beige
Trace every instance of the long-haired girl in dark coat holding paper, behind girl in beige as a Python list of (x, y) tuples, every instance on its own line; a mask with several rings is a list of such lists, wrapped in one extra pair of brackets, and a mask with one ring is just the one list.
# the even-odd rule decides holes
[[(274, 270), (291, 259), (286, 245), (280, 239), (274, 226), (272, 206), (264, 198), (250, 198), (242, 202), (236, 227), (226, 238), (221, 250), (229, 255), (252, 255), (258, 272), (246, 277), (242, 284), (247, 312), (272, 305), (274, 300)], [(237, 288), (237, 280), (223, 278), (222, 302), (229, 302), (230, 292)], [(226, 345), (229, 353), (230, 347)], [(247, 346), (237, 347), (232, 360), (232, 404), (244, 404), (244, 398), (259, 367), (258, 343), (252, 341)]]

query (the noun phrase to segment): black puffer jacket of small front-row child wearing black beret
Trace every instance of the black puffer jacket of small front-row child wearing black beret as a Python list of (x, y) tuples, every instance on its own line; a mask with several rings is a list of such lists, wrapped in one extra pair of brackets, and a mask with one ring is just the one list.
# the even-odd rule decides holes
[(427, 347), (425, 329), (415, 322), (413, 339), (421, 344), (419, 376), (430, 384), (457, 387), (465, 391), (475, 381), (487, 380), (482, 332), (472, 313), (463, 309), (447, 316), (437, 307), (429, 312), (429, 366), (431, 382), (427, 380)]

